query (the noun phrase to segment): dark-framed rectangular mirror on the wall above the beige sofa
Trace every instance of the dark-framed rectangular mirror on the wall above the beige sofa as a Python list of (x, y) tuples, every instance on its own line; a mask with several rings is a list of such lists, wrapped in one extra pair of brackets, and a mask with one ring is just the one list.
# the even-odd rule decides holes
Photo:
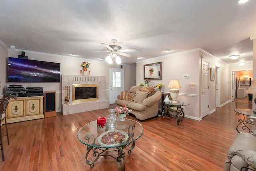
[(144, 80), (162, 80), (162, 62), (144, 65)]

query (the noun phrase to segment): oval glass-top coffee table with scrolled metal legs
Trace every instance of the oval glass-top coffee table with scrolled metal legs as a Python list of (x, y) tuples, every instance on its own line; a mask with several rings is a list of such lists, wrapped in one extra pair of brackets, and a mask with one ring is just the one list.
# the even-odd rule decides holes
[[(143, 126), (132, 119), (124, 118), (124, 121), (120, 121), (120, 119), (117, 118), (114, 128), (108, 127), (108, 124), (102, 129), (97, 128), (97, 120), (95, 120), (79, 129), (77, 138), (81, 143), (87, 145), (85, 159), (91, 168), (94, 167), (94, 163), (100, 156), (111, 156), (116, 159), (118, 170), (125, 170), (124, 149), (128, 150), (128, 154), (132, 153), (135, 141), (143, 134)], [(117, 157), (109, 154), (109, 151), (117, 151)]]

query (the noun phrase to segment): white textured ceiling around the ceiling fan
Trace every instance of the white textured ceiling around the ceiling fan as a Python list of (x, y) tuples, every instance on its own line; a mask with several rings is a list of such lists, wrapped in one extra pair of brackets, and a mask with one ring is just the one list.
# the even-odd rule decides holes
[[(230, 65), (252, 64), (256, 0), (8, 0), (0, 40), (9, 48), (98, 60), (100, 43), (126, 48), (122, 64), (202, 48)], [(170, 52), (164, 50), (170, 49)], [(237, 60), (229, 56), (239, 54)]]

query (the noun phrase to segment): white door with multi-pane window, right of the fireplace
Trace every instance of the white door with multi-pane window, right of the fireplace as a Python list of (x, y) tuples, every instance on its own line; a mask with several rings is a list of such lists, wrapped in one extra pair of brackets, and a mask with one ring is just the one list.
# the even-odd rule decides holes
[(117, 95), (124, 91), (124, 70), (109, 69), (109, 103), (116, 103)]

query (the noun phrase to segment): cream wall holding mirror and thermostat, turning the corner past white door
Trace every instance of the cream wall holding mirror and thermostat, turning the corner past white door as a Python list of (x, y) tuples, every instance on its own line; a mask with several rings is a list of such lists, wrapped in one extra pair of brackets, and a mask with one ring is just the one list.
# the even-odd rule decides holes
[[(151, 80), (150, 85), (154, 86), (158, 83), (164, 84), (161, 91), (169, 93), (167, 86), (172, 79), (178, 79), (182, 88), (180, 88), (178, 99), (182, 99), (190, 103), (188, 106), (184, 106), (184, 113), (186, 117), (200, 120), (201, 116), (201, 62), (202, 58), (206, 62), (210, 63), (210, 67), (220, 67), (221, 78), (221, 97), (220, 102), (228, 102), (227, 97), (230, 96), (230, 83), (228, 78), (230, 77), (228, 64), (214, 58), (208, 52), (201, 49), (190, 50), (186, 52), (170, 54), (162, 57), (152, 58), (151, 60), (144, 60), (137, 63), (137, 78), (136, 84), (143, 83), (143, 70), (144, 65), (152, 64), (156, 62), (162, 62), (162, 80)], [(189, 79), (184, 79), (184, 74), (189, 74)], [(209, 73), (210, 74), (210, 73)], [(190, 87), (191, 83), (195, 83), (196, 87)], [(216, 81), (209, 80), (209, 111), (215, 111), (215, 84)]]

